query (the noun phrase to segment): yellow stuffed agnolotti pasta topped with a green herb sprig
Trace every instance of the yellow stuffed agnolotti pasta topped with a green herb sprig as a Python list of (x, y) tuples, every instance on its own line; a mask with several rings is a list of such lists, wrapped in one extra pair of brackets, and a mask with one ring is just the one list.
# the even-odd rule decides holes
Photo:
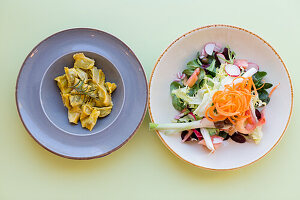
[(105, 82), (105, 75), (95, 66), (95, 61), (83, 53), (73, 55), (74, 67), (65, 67), (65, 74), (54, 80), (60, 89), (64, 106), (68, 109), (69, 122), (90, 131), (98, 118), (111, 113), (111, 94), (117, 88), (115, 83)]

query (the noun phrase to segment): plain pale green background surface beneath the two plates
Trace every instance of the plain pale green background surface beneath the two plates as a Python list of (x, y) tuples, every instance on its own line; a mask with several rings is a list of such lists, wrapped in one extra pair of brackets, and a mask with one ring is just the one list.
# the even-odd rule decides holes
[[(0, 0), (0, 199), (300, 199), (299, 8), (298, 0)], [(111, 33), (136, 53), (149, 79), (173, 40), (209, 24), (257, 33), (290, 71), (295, 103), (289, 128), (257, 163), (233, 171), (187, 164), (148, 130), (148, 114), (121, 149), (88, 161), (51, 154), (27, 134), (15, 105), (16, 78), (27, 54), (47, 36), (75, 27)]]

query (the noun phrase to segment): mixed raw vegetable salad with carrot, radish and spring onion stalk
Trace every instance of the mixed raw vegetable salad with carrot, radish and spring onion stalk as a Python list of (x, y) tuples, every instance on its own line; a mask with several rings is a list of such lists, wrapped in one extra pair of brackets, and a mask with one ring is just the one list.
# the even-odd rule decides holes
[(150, 129), (180, 132), (182, 142), (198, 142), (211, 152), (229, 138), (258, 144), (265, 107), (278, 87), (265, 82), (266, 75), (257, 64), (237, 59), (229, 46), (207, 43), (170, 84), (173, 107), (180, 113), (173, 123), (150, 123)]

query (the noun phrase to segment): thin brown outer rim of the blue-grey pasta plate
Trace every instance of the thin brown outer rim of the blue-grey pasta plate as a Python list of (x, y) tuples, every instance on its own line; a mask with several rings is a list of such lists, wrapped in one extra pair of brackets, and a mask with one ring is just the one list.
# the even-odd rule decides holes
[(103, 154), (100, 154), (100, 155), (96, 155), (96, 156), (89, 156), (89, 157), (73, 157), (73, 156), (67, 156), (67, 155), (63, 155), (63, 154), (60, 154), (60, 153), (58, 153), (58, 152), (55, 152), (55, 151), (49, 149), (48, 147), (46, 147), (45, 145), (43, 145), (42, 143), (40, 143), (39, 140), (36, 139), (36, 138), (33, 136), (33, 134), (29, 131), (29, 129), (27, 128), (27, 126), (26, 126), (26, 124), (25, 124), (25, 122), (24, 122), (24, 120), (23, 120), (23, 117), (22, 117), (22, 115), (21, 115), (21, 113), (20, 113), (20, 108), (19, 108), (19, 104), (18, 104), (18, 101), (19, 101), (19, 100), (18, 100), (18, 85), (19, 85), (19, 78), (20, 78), (20, 75), (21, 75), (21, 73), (22, 73), (22, 71), (23, 71), (23, 68), (24, 68), (24, 66), (25, 66), (25, 64), (26, 64), (26, 61), (28, 60), (28, 58), (29, 58), (31, 55), (34, 55), (34, 54), (35, 54), (36, 48), (37, 48), (38, 46), (40, 46), (43, 42), (46, 42), (47, 40), (53, 38), (54, 36), (56, 36), (56, 35), (58, 35), (58, 34), (61, 34), (61, 33), (64, 33), (64, 32), (68, 32), (68, 31), (76, 31), (76, 30), (78, 30), (78, 31), (80, 31), (80, 30), (81, 30), (81, 31), (95, 31), (95, 32), (98, 32), (98, 33), (100, 33), (100, 34), (106, 34), (106, 35), (108, 35), (108, 36), (110, 36), (110, 37), (112, 37), (112, 38), (118, 40), (122, 45), (124, 45), (124, 46), (132, 53), (134, 59), (137, 60), (139, 66), (140, 66), (140, 68), (141, 68), (141, 71), (142, 71), (142, 73), (143, 73), (143, 75), (144, 75), (143, 77), (144, 77), (145, 83), (146, 83), (146, 90), (148, 90), (149, 87), (148, 87), (148, 81), (147, 81), (147, 78), (146, 78), (145, 70), (144, 70), (144, 68), (143, 68), (143, 66), (142, 66), (142, 64), (141, 64), (141, 62), (139, 61), (139, 59), (138, 59), (137, 56), (135, 55), (135, 53), (129, 48), (129, 46), (128, 46), (127, 44), (125, 44), (122, 40), (120, 40), (120, 39), (117, 38), (116, 36), (114, 36), (114, 35), (112, 35), (112, 34), (110, 34), (110, 33), (107, 33), (107, 32), (105, 32), (105, 31), (98, 30), (98, 29), (95, 29), (95, 28), (82, 28), (82, 27), (81, 27), (81, 28), (70, 28), (70, 29), (64, 29), (64, 30), (58, 31), (58, 32), (56, 32), (56, 33), (54, 33), (54, 34), (51, 34), (50, 36), (46, 37), (45, 39), (43, 39), (42, 41), (40, 41), (37, 45), (35, 45), (35, 46), (33, 47), (33, 49), (28, 53), (28, 55), (27, 55), (26, 58), (24, 59), (24, 61), (23, 61), (23, 63), (22, 63), (22, 66), (21, 66), (21, 68), (20, 68), (20, 70), (19, 70), (18, 76), (17, 76), (16, 85), (15, 85), (15, 102), (16, 102), (16, 106), (17, 106), (18, 115), (19, 115), (19, 117), (20, 117), (20, 119), (21, 119), (21, 122), (22, 122), (23, 126), (25, 127), (25, 129), (26, 129), (26, 131), (29, 133), (29, 135), (30, 135), (30, 136), (31, 136), (31, 137), (32, 137), (32, 138), (33, 138), (40, 146), (42, 146), (42, 147), (43, 147), (44, 149), (46, 149), (47, 151), (49, 151), (49, 152), (51, 152), (51, 153), (53, 153), (53, 154), (55, 154), (55, 155), (57, 155), (57, 156), (63, 157), (63, 158), (68, 158), (68, 159), (73, 159), (73, 160), (90, 160), (90, 159), (94, 159), (94, 158), (101, 158), (101, 157), (104, 157), (104, 156), (107, 156), (107, 155), (113, 153), (114, 151), (118, 150), (118, 149), (121, 148), (123, 145), (125, 145), (125, 144), (126, 144), (126, 143), (127, 143), (127, 142), (135, 135), (135, 133), (137, 132), (137, 130), (138, 130), (139, 127), (141, 126), (142, 122), (144, 121), (144, 118), (145, 118), (145, 115), (146, 115), (147, 106), (148, 106), (148, 100), (149, 100), (149, 96), (148, 96), (149, 92), (148, 92), (148, 91), (146, 92), (146, 103), (145, 103), (145, 107), (144, 107), (144, 112), (143, 112), (143, 115), (142, 115), (141, 120), (140, 120), (140, 122), (138, 123), (137, 127), (134, 129), (134, 131), (130, 134), (130, 136), (129, 136), (123, 143), (121, 143), (119, 146), (113, 148), (112, 150), (110, 150), (110, 151), (108, 151), (108, 152), (106, 152), (106, 153), (103, 153)]

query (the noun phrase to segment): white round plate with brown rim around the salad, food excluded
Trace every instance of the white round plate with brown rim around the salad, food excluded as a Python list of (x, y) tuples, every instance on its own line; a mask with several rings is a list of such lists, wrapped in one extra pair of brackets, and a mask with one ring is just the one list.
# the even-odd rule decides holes
[(162, 142), (179, 158), (198, 167), (227, 170), (249, 165), (266, 155), (282, 138), (293, 106), (291, 79), (282, 59), (262, 38), (250, 31), (228, 25), (211, 25), (192, 30), (176, 39), (159, 57), (149, 83), (149, 113), (154, 123), (169, 123), (178, 114), (172, 106), (170, 83), (186, 63), (194, 59), (207, 42), (229, 45), (238, 58), (245, 58), (268, 73), (267, 82), (280, 83), (266, 107), (266, 124), (260, 144), (224, 142), (214, 154), (202, 145), (182, 143), (179, 135), (166, 136)]

